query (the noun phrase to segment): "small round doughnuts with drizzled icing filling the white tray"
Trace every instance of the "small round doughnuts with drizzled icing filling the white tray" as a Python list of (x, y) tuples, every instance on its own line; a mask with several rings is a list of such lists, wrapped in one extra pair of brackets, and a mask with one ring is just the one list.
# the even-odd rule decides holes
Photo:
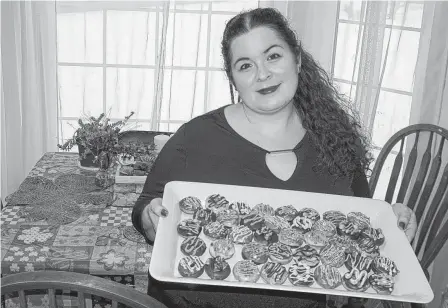
[[(199, 277), (205, 271), (212, 279), (225, 279), (230, 275), (226, 260), (233, 257), (234, 245), (244, 245), (243, 260), (233, 268), (239, 281), (262, 277), (271, 284), (289, 279), (293, 285), (316, 281), (324, 288), (342, 284), (355, 291), (365, 291), (369, 286), (378, 293), (390, 294), (393, 290), (398, 269), (393, 261), (380, 256), (384, 235), (381, 229), (371, 227), (363, 213), (327, 211), (321, 217), (312, 208), (296, 210), (292, 205), (276, 210), (267, 204), (251, 208), (244, 202), (231, 203), (219, 194), (207, 197), (205, 206), (190, 196), (182, 199), (179, 207), (193, 215), (181, 221), (177, 229), (185, 238), (181, 251), (192, 262), (190, 267), (185, 267), (188, 262), (179, 263), (182, 276)], [(205, 263), (200, 259), (207, 249), (199, 237), (201, 232), (212, 241), (211, 258)], [(287, 269), (289, 263), (292, 265)], [(341, 275), (338, 268), (343, 265), (348, 272)]]

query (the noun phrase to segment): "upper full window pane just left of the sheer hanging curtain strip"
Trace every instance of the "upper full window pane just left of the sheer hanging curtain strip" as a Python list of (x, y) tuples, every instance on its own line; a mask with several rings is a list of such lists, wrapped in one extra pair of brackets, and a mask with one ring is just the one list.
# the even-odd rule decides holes
[(107, 12), (107, 63), (155, 64), (155, 12)]

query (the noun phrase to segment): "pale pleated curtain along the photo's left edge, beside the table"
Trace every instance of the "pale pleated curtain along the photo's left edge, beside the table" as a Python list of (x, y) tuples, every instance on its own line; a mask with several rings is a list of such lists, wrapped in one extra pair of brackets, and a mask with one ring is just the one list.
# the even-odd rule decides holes
[(55, 3), (1, 2), (1, 195), (57, 144)]

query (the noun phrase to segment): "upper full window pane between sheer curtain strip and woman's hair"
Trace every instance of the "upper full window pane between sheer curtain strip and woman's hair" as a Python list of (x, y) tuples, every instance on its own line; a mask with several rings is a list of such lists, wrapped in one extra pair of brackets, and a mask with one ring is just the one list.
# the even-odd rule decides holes
[(168, 20), (165, 65), (204, 67), (207, 28), (206, 14), (171, 13)]

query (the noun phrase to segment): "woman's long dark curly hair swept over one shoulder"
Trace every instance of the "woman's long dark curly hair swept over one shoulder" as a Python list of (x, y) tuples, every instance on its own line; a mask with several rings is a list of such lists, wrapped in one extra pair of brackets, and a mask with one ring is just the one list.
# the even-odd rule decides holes
[(327, 167), (330, 174), (341, 177), (352, 177), (359, 171), (368, 174), (373, 160), (369, 152), (370, 139), (362, 132), (357, 113), (348, 99), (338, 93), (325, 70), (302, 48), (287, 19), (276, 9), (257, 8), (242, 12), (226, 25), (221, 47), (232, 102), (231, 43), (236, 37), (261, 26), (274, 30), (297, 59), (301, 58), (294, 104), (303, 127), (317, 147), (315, 167), (318, 170)]

